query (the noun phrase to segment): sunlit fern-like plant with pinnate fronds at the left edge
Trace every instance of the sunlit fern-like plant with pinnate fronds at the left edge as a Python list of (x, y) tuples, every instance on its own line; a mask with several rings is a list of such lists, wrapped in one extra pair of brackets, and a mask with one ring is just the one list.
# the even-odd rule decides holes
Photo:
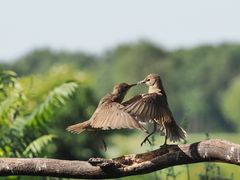
[[(54, 135), (44, 134), (51, 114), (76, 91), (77, 84), (67, 82), (48, 93), (42, 104), (25, 114), (26, 96), (24, 87), (11, 71), (1, 72), (1, 157), (33, 157), (39, 155)], [(14, 76), (13, 76), (14, 75)], [(6, 90), (7, 89), (7, 90)], [(41, 127), (41, 128), (40, 128)]]

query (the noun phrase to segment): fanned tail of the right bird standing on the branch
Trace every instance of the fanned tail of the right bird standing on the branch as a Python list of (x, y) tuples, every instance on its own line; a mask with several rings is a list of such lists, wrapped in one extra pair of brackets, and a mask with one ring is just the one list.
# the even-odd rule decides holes
[(186, 131), (177, 125), (175, 121), (164, 123), (165, 135), (172, 142), (184, 140), (187, 137)]

